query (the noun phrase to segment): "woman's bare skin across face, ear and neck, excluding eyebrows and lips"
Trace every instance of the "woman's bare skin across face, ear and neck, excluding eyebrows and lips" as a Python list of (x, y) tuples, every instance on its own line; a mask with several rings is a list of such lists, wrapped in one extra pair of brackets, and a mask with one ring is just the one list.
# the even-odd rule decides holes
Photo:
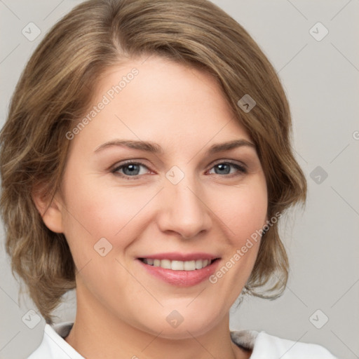
[[(249, 358), (231, 342), (229, 309), (248, 280), (259, 241), (217, 283), (176, 287), (137, 262), (159, 252), (208, 252), (221, 268), (266, 224), (267, 189), (255, 147), (205, 155), (212, 144), (248, 140), (209, 74), (161, 57), (130, 60), (103, 74), (93, 104), (136, 67), (135, 76), (74, 136), (61, 192), (34, 198), (49, 229), (64, 233), (76, 264), (77, 313), (66, 341), (91, 358)], [(143, 62), (143, 63), (142, 63)], [(163, 154), (111, 146), (115, 139), (156, 142)], [(123, 161), (141, 165), (130, 177)], [(232, 165), (245, 165), (243, 173)], [(165, 175), (176, 165), (184, 178)], [(119, 174), (123, 177), (120, 177)], [(126, 179), (125, 177), (130, 177)], [(100, 238), (112, 249), (95, 250)], [(172, 327), (166, 317), (184, 318)]]

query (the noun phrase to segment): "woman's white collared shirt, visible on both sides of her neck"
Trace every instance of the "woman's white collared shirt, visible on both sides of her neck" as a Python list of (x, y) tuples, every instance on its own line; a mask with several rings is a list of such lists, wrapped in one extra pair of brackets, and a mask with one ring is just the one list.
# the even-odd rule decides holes
[[(65, 338), (73, 323), (45, 325), (39, 348), (27, 359), (85, 359), (70, 346)], [(233, 330), (231, 339), (241, 348), (252, 349), (250, 359), (337, 359), (318, 344), (282, 339), (255, 330)]]

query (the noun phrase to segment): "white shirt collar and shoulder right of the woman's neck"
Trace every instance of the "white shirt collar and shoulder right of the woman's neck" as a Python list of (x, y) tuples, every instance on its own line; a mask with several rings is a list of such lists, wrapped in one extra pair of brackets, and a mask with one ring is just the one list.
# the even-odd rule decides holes
[(251, 359), (337, 359), (323, 346), (283, 339), (255, 330), (231, 331), (231, 338), (238, 346), (252, 349)]

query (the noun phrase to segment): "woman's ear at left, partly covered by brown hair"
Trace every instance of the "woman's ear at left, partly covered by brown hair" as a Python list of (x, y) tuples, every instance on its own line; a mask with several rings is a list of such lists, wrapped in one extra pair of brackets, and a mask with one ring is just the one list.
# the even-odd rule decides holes
[(42, 188), (37, 187), (32, 192), (32, 200), (48, 229), (55, 233), (63, 233), (62, 203), (58, 194), (51, 198), (48, 194), (44, 194)]

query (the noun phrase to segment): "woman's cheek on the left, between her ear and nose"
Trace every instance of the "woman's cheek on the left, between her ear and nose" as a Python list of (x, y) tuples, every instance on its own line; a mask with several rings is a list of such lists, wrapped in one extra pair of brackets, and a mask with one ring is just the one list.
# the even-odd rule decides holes
[[(126, 247), (130, 238), (138, 236), (139, 221), (158, 191), (154, 188), (116, 187), (113, 183), (106, 185), (103, 182), (102, 179), (87, 179), (86, 183), (78, 185), (72, 182), (65, 191), (65, 236), (74, 249), (80, 243), (81, 250), (93, 249), (102, 237)], [(88, 244), (86, 247), (84, 241)]]

